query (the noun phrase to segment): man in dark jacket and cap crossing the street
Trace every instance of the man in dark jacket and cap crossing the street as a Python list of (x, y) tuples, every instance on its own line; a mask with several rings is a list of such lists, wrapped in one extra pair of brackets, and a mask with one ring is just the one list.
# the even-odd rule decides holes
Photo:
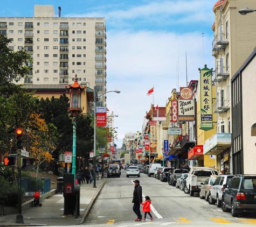
[(142, 187), (140, 186), (140, 181), (135, 180), (134, 181), (134, 191), (133, 191), (133, 211), (137, 215), (136, 221), (141, 221), (142, 215), (140, 210), (140, 204), (142, 203)]

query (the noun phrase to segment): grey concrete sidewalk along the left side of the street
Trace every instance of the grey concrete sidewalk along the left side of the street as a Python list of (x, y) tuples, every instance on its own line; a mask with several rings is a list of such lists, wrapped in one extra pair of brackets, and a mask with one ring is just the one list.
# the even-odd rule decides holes
[(105, 184), (105, 179), (96, 178), (96, 188), (93, 183), (81, 183), (80, 189), (80, 216), (64, 216), (64, 197), (63, 194), (54, 194), (43, 200), (41, 207), (31, 207), (25, 210), (23, 215), (24, 224), (16, 223), (17, 214), (0, 216), (1, 226), (34, 226), (34, 225), (78, 225), (85, 221), (89, 211), (96, 200), (101, 188)]

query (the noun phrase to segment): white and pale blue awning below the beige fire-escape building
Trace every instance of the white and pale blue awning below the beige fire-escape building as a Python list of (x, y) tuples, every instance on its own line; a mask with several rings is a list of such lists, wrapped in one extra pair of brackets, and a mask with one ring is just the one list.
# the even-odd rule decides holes
[(204, 144), (204, 155), (219, 155), (231, 147), (231, 133), (216, 133)]

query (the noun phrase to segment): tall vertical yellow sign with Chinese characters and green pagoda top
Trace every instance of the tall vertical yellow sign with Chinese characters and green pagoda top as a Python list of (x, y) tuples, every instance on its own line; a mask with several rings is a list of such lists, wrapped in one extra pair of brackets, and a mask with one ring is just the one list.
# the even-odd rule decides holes
[(212, 123), (212, 69), (207, 65), (200, 70), (200, 102), (201, 102), (201, 127), (208, 131), (213, 129)]

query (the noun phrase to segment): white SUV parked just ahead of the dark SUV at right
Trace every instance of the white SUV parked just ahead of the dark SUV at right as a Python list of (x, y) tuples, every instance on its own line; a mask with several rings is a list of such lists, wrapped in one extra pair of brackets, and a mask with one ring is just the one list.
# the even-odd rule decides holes
[(218, 176), (216, 181), (213, 183), (212, 187), (210, 188), (210, 200), (216, 201), (217, 207), (222, 206), (222, 193), (225, 190), (223, 187), (224, 185), (229, 185), (231, 179), (234, 176), (238, 175), (221, 175)]

